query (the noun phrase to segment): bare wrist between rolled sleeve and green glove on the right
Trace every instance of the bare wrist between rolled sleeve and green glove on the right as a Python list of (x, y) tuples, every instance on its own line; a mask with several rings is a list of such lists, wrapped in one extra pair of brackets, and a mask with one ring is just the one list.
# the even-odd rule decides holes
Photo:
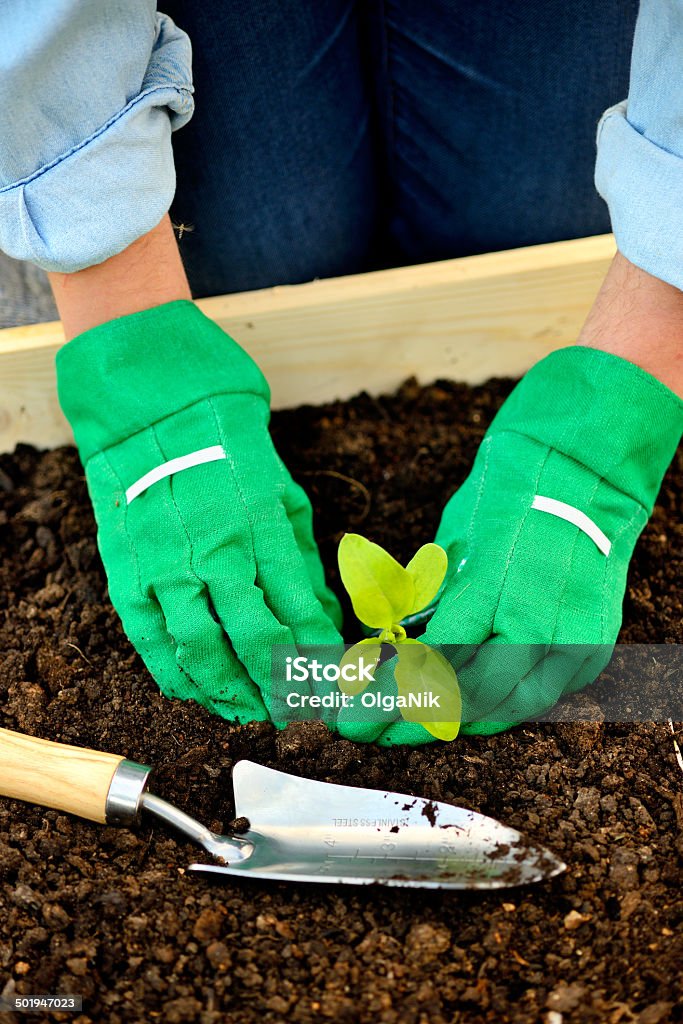
[(683, 292), (617, 253), (580, 345), (635, 362), (683, 397)]

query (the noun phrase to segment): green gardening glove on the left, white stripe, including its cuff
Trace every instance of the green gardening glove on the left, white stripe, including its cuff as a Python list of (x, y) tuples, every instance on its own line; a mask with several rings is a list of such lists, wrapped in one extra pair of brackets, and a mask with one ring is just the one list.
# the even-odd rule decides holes
[(268, 719), (273, 645), (341, 643), (341, 616), (260, 370), (178, 301), (69, 342), (57, 384), (112, 602), (150, 672), (168, 697)]

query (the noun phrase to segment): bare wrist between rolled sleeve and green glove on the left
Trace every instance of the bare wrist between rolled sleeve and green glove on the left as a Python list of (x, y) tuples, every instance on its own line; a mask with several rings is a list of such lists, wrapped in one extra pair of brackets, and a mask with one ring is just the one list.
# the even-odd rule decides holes
[(103, 263), (48, 276), (67, 341), (117, 316), (191, 298), (168, 215)]

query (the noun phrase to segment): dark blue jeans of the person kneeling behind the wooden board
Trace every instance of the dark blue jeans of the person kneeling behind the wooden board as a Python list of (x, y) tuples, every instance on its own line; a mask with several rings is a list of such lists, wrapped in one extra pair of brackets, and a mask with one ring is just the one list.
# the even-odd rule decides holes
[(171, 214), (195, 294), (609, 230), (595, 131), (637, 8), (165, 0), (194, 46)]

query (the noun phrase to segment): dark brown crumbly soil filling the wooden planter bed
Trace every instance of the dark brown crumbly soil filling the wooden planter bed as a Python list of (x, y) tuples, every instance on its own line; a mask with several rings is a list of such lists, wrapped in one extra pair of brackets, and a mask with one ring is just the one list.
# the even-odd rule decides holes
[[(333, 574), (345, 529), (399, 559), (432, 539), (510, 386), (409, 383), (274, 417)], [(679, 454), (623, 640), (683, 642), (682, 490)], [(161, 826), (0, 800), (0, 991), (82, 994), (82, 1022), (683, 1021), (683, 774), (667, 727), (562, 723), (387, 751), (317, 723), (230, 725), (160, 696), (124, 637), (73, 450), (1, 457), (0, 499), (0, 724), (151, 763), (156, 792), (217, 829), (248, 757), (463, 804), (569, 864), (490, 895), (221, 885), (185, 873), (197, 849)]]

